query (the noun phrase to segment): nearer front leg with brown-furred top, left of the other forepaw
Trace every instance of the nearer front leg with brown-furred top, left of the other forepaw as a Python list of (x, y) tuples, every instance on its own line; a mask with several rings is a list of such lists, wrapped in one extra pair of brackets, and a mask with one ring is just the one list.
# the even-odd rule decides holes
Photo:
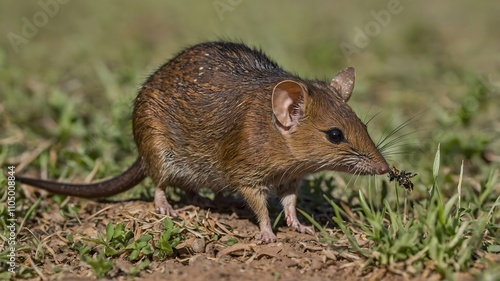
[(240, 190), (240, 193), (245, 198), (248, 206), (257, 215), (260, 228), (257, 239), (264, 243), (276, 242), (276, 235), (273, 233), (269, 211), (267, 210), (268, 189), (263, 186), (245, 187)]

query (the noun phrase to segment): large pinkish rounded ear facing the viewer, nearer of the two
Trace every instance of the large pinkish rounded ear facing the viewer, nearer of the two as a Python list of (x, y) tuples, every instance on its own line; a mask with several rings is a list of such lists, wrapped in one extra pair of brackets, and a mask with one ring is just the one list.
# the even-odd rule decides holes
[(272, 107), (277, 127), (282, 134), (295, 131), (299, 119), (304, 115), (305, 88), (292, 80), (276, 84), (273, 90)]

